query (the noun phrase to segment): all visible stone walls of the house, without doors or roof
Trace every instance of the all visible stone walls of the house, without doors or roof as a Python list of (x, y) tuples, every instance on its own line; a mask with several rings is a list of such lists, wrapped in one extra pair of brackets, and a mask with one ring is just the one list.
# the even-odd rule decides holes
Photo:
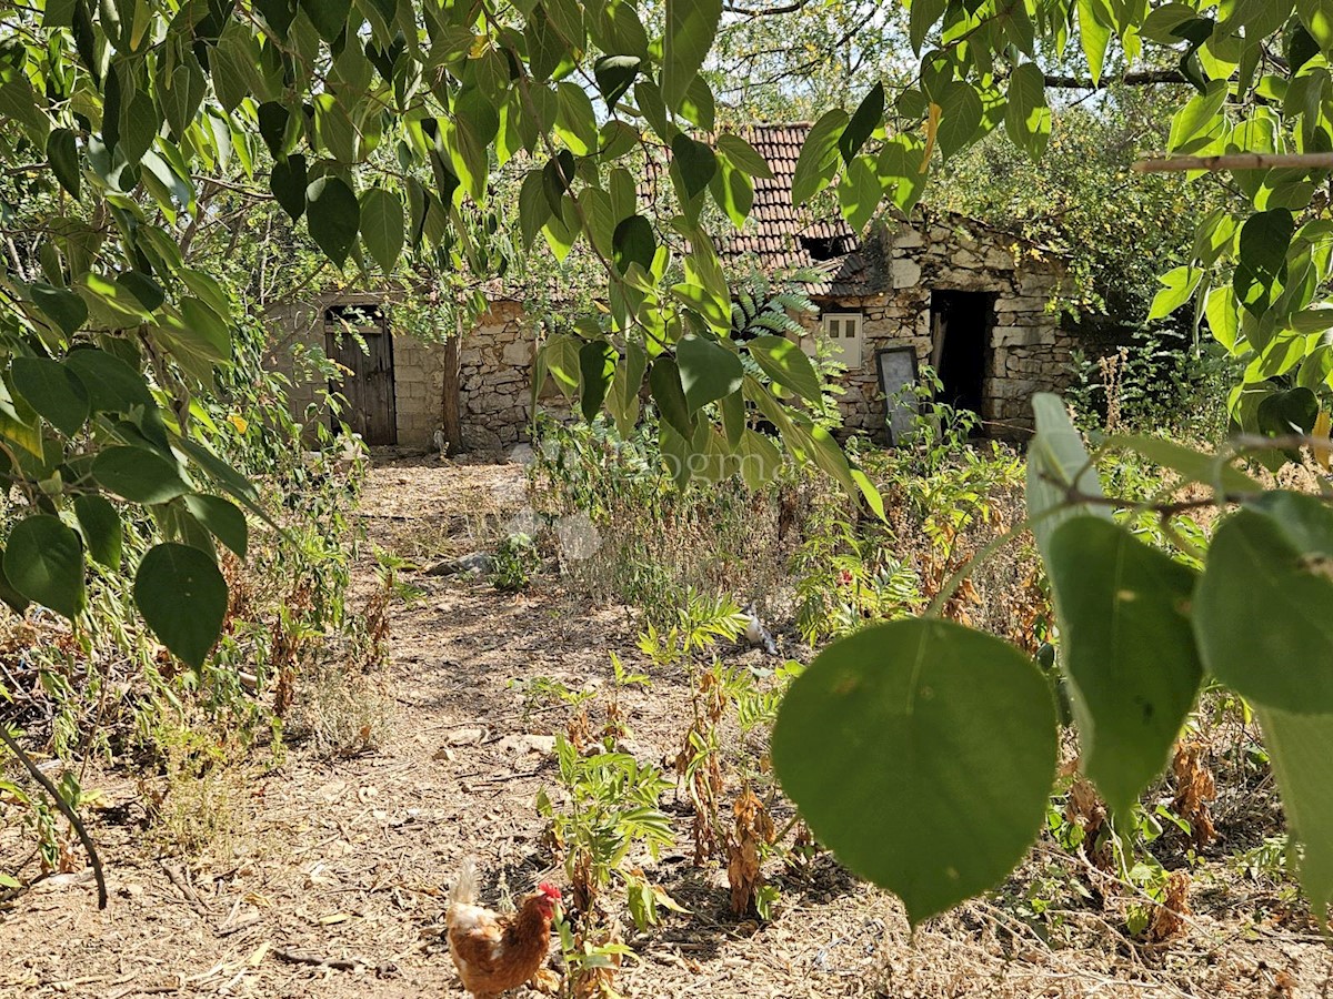
[[(829, 312), (862, 314), (861, 366), (848, 370), (841, 400), (848, 429), (878, 434), (885, 424), (876, 352), (910, 346), (917, 360), (930, 358), (930, 296), (936, 290), (986, 292), (994, 296), (982, 385), (982, 418), (988, 433), (1005, 436), (1032, 425), (1034, 392), (1064, 388), (1073, 337), (1060, 328), (1053, 309), (1062, 281), (1058, 261), (1013, 237), (958, 217), (936, 217), (880, 234), (892, 290), (860, 298), (818, 301)], [(327, 297), (269, 313), (272, 362), (289, 374), (292, 345), (324, 345), (324, 309), (331, 304), (375, 304), (375, 296)], [(388, 306), (395, 329), (393, 305)], [(401, 308), (401, 306), (400, 306)], [(817, 317), (808, 326), (818, 328)], [(395, 405), (399, 445), (431, 448), (443, 426), (448, 384), (443, 344), (393, 337)], [(459, 417), (465, 450), (499, 450), (527, 440), (531, 420), (533, 333), (523, 305), (492, 304), (464, 334), (457, 352)], [(301, 418), (317, 398), (316, 386), (293, 386), (293, 413)], [(544, 400), (553, 412), (563, 398)], [(323, 418), (323, 417), (319, 417)]]

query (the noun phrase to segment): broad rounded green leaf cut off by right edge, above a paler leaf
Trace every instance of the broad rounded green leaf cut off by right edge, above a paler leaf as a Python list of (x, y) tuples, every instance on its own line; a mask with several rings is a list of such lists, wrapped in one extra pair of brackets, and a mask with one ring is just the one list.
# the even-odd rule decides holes
[(1274, 492), (1228, 517), (1194, 597), (1204, 665), (1256, 705), (1333, 714), (1333, 510)]

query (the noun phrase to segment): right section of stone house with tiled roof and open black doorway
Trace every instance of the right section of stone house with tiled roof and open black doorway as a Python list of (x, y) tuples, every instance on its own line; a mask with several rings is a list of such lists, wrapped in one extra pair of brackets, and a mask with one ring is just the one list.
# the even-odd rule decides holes
[(944, 401), (978, 413), (986, 433), (1030, 428), (1028, 400), (1062, 388), (1074, 344), (1053, 308), (1060, 260), (977, 220), (928, 208), (877, 222), (861, 240), (836, 210), (816, 217), (793, 206), (808, 133), (809, 125), (741, 133), (773, 177), (756, 180), (750, 218), (724, 250), (769, 272), (824, 270), (821, 284), (806, 286), (820, 309), (806, 325), (822, 330), (846, 366), (840, 405), (848, 429), (901, 426), (905, 409), (886, 398), (904, 398), (897, 386), (924, 364), (944, 382)]

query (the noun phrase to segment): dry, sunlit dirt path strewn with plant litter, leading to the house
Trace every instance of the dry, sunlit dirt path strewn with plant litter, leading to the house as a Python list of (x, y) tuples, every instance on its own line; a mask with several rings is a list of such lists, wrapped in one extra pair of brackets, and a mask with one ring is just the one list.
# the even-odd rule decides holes
[[(407, 554), (479, 546), (524, 502), (513, 465), (391, 462), (375, 469), (364, 511), (372, 539)], [(0, 994), (216, 996), (461, 996), (439, 931), (444, 894), (467, 855), (491, 900), (545, 876), (533, 802), (555, 783), (549, 735), (563, 706), (525, 702), (523, 683), (608, 682), (608, 651), (637, 659), (623, 609), (588, 607), (549, 581), (527, 595), (480, 579), (420, 575), (397, 605), (384, 683), (385, 737), (373, 753), (321, 759), (289, 751), (236, 793), (235, 831), (189, 870), (139, 842), (137, 790), (107, 775), (111, 807), (93, 831), (112, 903), (88, 879), (41, 883), (0, 912)], [(674, 753), (678, 677), (629, 695), (636, 754)], [(119, 821), (117, 821), (119, 819)], [(784, 884), (778, 918), (726, 915), (725, 878), (682, 855), (653, 872), (690, 916), (670, 916), (617, 979), (627, 996), (1174, 996), (1326, 994), (1330, 963), (1313, 938), (1224, 912), (1198, 915), (1162, 951), (1048, 948), (988, 903), (909, 940), (901, 910), (829, 860)], [(684, 872), (677, 872), (684, 871)], [(1017, 934), (1017, 935), (1016, 935)], [(1025, 936), (1026, 934), (1026, 936)], [(1017, 943), (1016, 943), (1017, 942)], [(328, 962), (321, 964), (320, 962)]]

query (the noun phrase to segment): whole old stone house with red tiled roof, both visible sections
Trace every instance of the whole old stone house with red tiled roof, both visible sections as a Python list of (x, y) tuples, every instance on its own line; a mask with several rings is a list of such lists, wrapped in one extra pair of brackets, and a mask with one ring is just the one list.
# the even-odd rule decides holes
[[(1030, 426), (1029, 397), (1062, 388), (1073, 345), (1052, 308), (1060, 261), (976, 220), (929, 209), (877, 222), (862, 240), (836, 209), (816, 217), (793, 206), (808, 132), (742, 132), (773, 177), (756, 180), (750, 218), (720, 249), (737, 269), (820, 269), (822, 280), (808, 285), (818, 314), (802, 320), (812, 332), (806, 346), (813, 350), (822, 334), (845, 365), (848, 429), (893, 440), (909, 416), (901, 386), (924, 364), (938, 373), (946, 401), (981, 414), (986, 433)], [(373, 294), (323, 296), (272, 321), (288, 330), (284, 342), (320, 344), (349, 372), (343, 418), (368, 444), (497, 450), (528, 434), (535, 333), (520, 302), (489, 298), (475, 328), (447, 342), (397, 332), (393, 302)], [(283, 354), (275, 352), (277, 364), (289, 366)], [(309, 385), (293, 396), (297, 412), (315, 398)]]

